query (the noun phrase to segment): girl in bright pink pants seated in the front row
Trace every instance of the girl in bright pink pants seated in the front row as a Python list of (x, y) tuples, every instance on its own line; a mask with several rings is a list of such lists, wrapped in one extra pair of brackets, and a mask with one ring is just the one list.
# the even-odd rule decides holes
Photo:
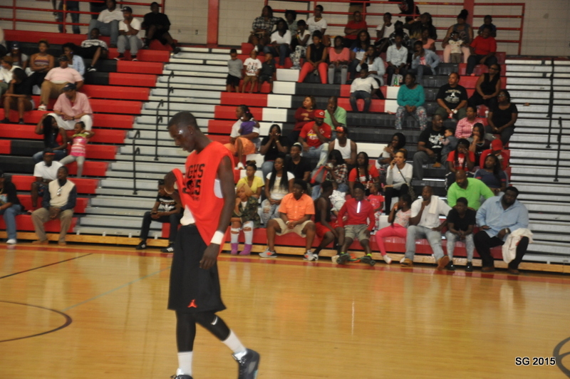
[(382, 254), (382, 258), (387, 264), (392, 263), (392, 258), (386, 251), (384, 239), (386, 237), (400, 237), (405, 239), (408, 235), (408, 224), (410, 223), (410, 214), (412, 213), (410, 205), (412, 204), (412, 197), (409, 194), (400, 196), (398, 202), (394, 204), (390, 213), (388, 214), (389, 227), (384, 227), (376, 232), (376, 244)]

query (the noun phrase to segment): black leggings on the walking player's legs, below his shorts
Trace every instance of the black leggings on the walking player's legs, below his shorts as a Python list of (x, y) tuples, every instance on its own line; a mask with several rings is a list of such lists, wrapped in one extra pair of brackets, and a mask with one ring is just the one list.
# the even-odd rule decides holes
[(179, 352), (194, 350), (197, 323), (219, 338), (219, 341), (225, 341), (229, 337), (229, 328), (226, 323), (213, 312), (176, 311), (176, 344)]

